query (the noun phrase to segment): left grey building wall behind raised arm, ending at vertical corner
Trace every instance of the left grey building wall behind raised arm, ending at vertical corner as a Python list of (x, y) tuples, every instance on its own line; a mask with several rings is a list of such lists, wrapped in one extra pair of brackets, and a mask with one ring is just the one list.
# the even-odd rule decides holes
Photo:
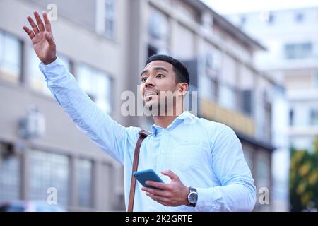
[[(59, 57), (99, 107), (128, 125), (117, 101), (127, 85), (122, 66), (126, 17), (116, 18), (113, 25), (105, 13), (97, 16), (98, 4), (126, 15), (126, 1), (116, 1), (116, 6), (114, 1), (0, 4), (0, 200), (46, 200), (47, 189), (53, 187), (57, 202), (69, 210), (124, 210), (122, 168), (78, 131), (57, 105), (21, 26), (28, 23), (26, 15), (50, 11), (49, 4), (55, 4), (52, 30)], [(23, 136), (19, 121), (36, 115), (42, 118), (42, 136)]]

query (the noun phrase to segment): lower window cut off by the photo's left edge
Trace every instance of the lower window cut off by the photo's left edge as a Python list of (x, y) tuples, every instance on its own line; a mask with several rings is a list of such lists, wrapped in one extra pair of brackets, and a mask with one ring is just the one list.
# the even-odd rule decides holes
[(19, 159), (14, 155), (7, 155), (11, 145), (0, 143), (0, 202), (19, 198), (20, 167)]

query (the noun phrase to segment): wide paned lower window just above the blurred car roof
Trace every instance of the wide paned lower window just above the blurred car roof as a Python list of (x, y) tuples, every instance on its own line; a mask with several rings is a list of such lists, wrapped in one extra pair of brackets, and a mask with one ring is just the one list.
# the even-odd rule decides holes
[(47, 189), (57, 189), (57, 203), (69, 203), (69, 157), (30, 151), (30, 199), (47, 201)]

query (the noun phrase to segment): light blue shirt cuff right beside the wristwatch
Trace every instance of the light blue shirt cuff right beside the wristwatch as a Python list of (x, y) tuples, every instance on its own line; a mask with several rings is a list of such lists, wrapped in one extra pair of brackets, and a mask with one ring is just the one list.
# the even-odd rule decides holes
[(222, 193), (217, 187), (207, 189), (196, 189), (198, 192), (198, 201), (196, 203), (195, 211), (213, 211), (220, 208), (218, 199), (222, 198)]

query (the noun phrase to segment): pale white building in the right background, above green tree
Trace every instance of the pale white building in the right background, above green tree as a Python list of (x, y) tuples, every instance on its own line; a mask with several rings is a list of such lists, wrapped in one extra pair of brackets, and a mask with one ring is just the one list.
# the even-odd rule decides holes
[(283, 184), (288, 184), (289, 169), (284, 166), (289, 165), (289, 149), (312, 151), (318, 135), (318, 8), (240, 13), (226, 18), (266, 46), (268, 51), (256, 55), (255, 65), (285, 87), (287, 105), (278, 108), (286, 107), (288, 121), (286, 124), (276, 114), (280, 124), (276, 133), (285, 131), (288, 137), (275, 143), (280, 151), (276, 152), (274, 170), (278, 173), (274, 180), (277, 190), (288, 188)]

